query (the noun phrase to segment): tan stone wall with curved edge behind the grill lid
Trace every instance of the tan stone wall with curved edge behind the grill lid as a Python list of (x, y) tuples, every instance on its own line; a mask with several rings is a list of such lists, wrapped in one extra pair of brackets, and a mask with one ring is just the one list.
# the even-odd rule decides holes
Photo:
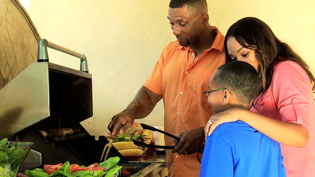
[(37, 60), (40, 36), (18, 0), (0, 0), (0, 89)]

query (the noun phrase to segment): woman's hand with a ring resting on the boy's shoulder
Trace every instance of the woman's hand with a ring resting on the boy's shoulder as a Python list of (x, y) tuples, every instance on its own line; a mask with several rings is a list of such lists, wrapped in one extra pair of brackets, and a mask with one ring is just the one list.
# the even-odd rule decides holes
[(222, 123), (237, 121), (241, 119), (240, 112), (242, 108), (232, 108), (210, 117), (204, 128), (205, 139)]

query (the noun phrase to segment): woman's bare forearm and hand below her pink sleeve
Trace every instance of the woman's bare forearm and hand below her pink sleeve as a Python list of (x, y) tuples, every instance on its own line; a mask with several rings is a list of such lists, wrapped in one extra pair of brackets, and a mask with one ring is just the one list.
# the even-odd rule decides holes
[(205, 137), (210, 135), (221, 123), (241, 120), (271, 139), (287, 146), (304, 148), (309, 141), (308, 131), (301, 124), (268, 118), (241, 108), (233, 108), (213, 115), (210, 120), (213, 123), (211, 126), (209, 123), (206, 124)]

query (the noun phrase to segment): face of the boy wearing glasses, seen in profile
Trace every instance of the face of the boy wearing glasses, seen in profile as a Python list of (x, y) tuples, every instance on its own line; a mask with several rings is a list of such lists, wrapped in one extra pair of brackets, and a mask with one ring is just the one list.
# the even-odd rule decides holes
[[(216, 90), (216, 89), (221, 89), (217, 88), (217, 84), (212, 82), (212, 80), (209, 83), (209, 90)], [(208, 103), (210, 104), (214, 114), (218, 114), (222, 111), (226, 110), (226, 105), (223, 102), (224, 98), (224, 90), (217, 90), (213, 91), (209, 94), (208, 96)]]

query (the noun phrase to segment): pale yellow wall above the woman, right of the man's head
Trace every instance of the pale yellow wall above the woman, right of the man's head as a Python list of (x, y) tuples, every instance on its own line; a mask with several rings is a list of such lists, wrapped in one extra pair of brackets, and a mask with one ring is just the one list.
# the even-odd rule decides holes
[(288, 43), (315, 71), (315, 0), (207, 0), (210, 24), (222, 33), (237, 20), (256, 17)]

